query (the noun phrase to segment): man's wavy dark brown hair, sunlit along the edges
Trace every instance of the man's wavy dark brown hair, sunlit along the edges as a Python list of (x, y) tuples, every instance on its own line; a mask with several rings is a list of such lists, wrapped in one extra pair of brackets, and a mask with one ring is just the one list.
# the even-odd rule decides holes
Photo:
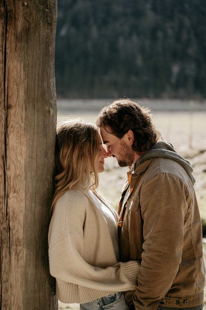
[(132, 130), (135, 136), (132, 149), (142, 153), (156, 144), (161, 136), (152, 124), (149, 112), (149, 108), (140, 107), (130, 99), (119, 99), (101, 109), (96, 125), (104, 127), (105, 130), (105, 127), (109, 126), (106, 131), (118, 138)]

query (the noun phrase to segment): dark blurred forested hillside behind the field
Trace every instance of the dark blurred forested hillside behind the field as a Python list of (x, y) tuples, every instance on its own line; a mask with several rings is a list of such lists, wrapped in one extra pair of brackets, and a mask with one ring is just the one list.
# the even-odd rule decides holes
[(58, 0), (58, 98), (205, 98), (205, 18), (205, 0)]

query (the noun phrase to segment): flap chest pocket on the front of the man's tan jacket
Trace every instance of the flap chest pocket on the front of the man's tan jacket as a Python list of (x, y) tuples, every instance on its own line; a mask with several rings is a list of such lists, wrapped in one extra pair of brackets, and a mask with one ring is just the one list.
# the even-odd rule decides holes
[(125, 204), (125, 214), (122, 223), (122, 228), (127, 228), (128, 232), (139, 231), (139, 198), (130, 195)]

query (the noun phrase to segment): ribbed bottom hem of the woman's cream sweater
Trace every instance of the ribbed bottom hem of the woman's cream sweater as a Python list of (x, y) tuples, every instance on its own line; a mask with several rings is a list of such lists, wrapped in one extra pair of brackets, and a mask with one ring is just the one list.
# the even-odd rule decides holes
[(91, 300), (116, 292), (117, 291), (96, 290), (73, 283), (59, 283), (56, 281), (56, 297), (62, 303), (88, 303)]

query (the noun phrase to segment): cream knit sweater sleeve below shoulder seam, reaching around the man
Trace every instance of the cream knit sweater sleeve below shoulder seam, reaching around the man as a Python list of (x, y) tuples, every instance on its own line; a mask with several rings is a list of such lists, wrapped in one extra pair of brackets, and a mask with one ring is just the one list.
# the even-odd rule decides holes
[(83, 247), (83, 242), (71, 235), (56, 242), (49, 250), (51, 275), (65, 282), (97, 290), (118, 292), (135, 289), (139, 262), (119, 262), (107, 268), (95, 267), (83, 259)]

